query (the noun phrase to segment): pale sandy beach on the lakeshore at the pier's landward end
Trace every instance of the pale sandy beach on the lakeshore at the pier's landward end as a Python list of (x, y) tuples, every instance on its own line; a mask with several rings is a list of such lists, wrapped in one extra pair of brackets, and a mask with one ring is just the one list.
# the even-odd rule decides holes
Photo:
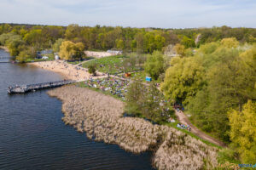
[[(87, 69), (78, 65), (68, 64), (66, 61), (63, 60), (33, 62), (29, 63), (28, 65), (35, 65), (48, 71), (55, 71), (69, 80), (84, 81), (90, 78), (90, 73), (87, 71)], [(107, 76), (105, 76), (101, 72), (97, 72), (97, 76), (92, 78), (95, 79), (103, 77)]]

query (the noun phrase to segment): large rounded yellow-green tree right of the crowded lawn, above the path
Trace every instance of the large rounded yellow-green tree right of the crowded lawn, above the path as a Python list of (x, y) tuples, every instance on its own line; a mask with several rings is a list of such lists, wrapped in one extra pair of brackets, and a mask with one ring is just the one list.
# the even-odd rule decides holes
[(172, 58), (161, 90), (172, 101), (186, 105), (189, 103), (189, 97), (195, 96), (203, 88), (204, 77), (204, 68), (196, 59)]

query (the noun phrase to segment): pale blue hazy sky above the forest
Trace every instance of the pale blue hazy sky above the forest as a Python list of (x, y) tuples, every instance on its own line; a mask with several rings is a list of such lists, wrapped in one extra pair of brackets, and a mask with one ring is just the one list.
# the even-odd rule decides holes
[(256, 27), (256, 0), (0, 0), (0, 23)]

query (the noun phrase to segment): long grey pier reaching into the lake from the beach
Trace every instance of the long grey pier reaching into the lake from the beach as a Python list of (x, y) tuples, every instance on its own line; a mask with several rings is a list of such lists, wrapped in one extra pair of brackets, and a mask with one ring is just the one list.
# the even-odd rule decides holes
[(73, 82), (74, 81), (71, 80), (64, 80), (57, 82), (43, 82), (38, 84), (29, 84), (21, 86), (16, 85), (15, 87), (10, 86), (7, 91), (9, 94), (25, 94), (26, 92), (31, 92), (39, 89), (60, 87), (66, 84), (71, 84)]

